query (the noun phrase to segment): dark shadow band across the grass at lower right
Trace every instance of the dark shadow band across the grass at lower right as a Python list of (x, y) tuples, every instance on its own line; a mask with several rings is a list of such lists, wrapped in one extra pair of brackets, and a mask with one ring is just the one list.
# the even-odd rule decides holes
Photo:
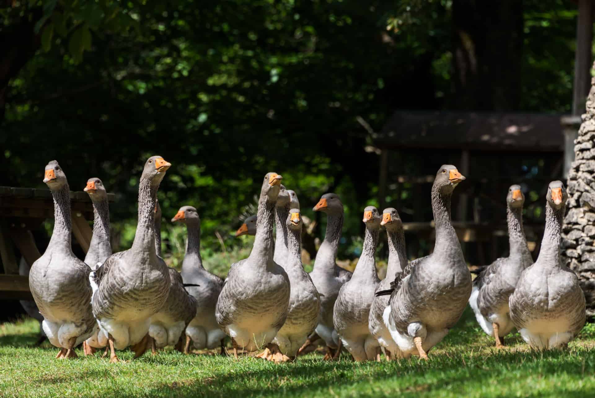
[[(491, 396), (511, 396), (507, 389), (513, 382), (533, 383), (533, 377), (547, 378), (570, 375), (582, 378), (593, 374), (595, 353), (584, 349), (569, 352), (494, 352), (490, 356), (469, 356), (460, 350), (448, 356), (434, 356), (430, 362), (418, 359), (400, 362), (356, 364), (351, 361), (322, 362), (305, 359), (282, 365), (263, 364), (264, 368), (244, 371), (254, 359), (227, 363), (226, 371), (196, 381), (174, 381), (148, 390), (149, 396), (312, 396), (356, 394), (378, 396), (395, 393), (438, 393), (439, 391), (480, 392), (496, 383), (502, 393)], [(243, 363), (242, 363), (243, 362)], [(223, 366), (222, 366), (223, 367)], [(519, 369), (522, 374), (519, 376)], [(380, 387), (383, 393), (378, 393)], [(115, 391), (114, 391), (115, 392)], [(530, 396), (542, 396), (535, 390)], [(547, 393), (564, 396), (580, 393), (594, 396), (591, 386), (568, 386), (555, 383)]]

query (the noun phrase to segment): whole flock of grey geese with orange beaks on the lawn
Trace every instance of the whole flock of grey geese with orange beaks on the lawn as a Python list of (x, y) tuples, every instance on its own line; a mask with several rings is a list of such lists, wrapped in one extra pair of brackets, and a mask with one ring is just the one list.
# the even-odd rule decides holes
[[(325, 359), (342, 346), (355, 361), (380, 361), (418, 355), (438, 344), (461, 318), (467, 303), (481, 328), (503, 346), (517, 328), (536, 349), (566, 346), (585, 323), (585, 297), (577, 276), (560, 261), (560, 232), (567, 194), (560, 181), (549, 184), (546, 226), (535, 263), (522, 228), (524, 196), (511, 186), (506, 196), (510, 255), (474, 271), (472, 280), (450, 220), (450, 198), (465, 177), (443, 165), (431, 189), (436, 244), (424, 258), (408, 262), (403, 223), (394, 208), (364, 209), (364, 247), (352, 272), (336, 263), (343, 227), (343, 205), (334, 193), (323, 195), (314, 211), (327, 214), (324, 241), (314, 270), (300, 257), (302, 217), (297, 195), (268, 173), (262, 180), (258, 214), (236, 236), (254, 234), (248, 258), (231, 265), (226, 280), (206, 271), (200, 252), (201, 220), (183, 206), (171, 220), (187, 227), (181, 272), (161, 258), (159, 184), (171, 164), (149, 158), (139, 184), (138, 225), (132, 247), (112, 253), (107, 193), (99, 178), (85, 191), (95, 212), (93, 237), (84, 261), (71, 249), (67, 179), (57, 161), (45, 167), (45, 182), (55, 205), (49, 245), (32, 265), (29, 286), (43, 316), (42, 328), (60, 348), (57, 358), (76, 358), (98, 349), (118, 362), (116, 350), (130, 347), (135, 358), (174, 346), (189, 353), (214, 349), (231, 337), (238, 349), (268, 361), (293, 361), (323, 340)], [(389, 242), (387, 277), (380, 281), (375, 251), (381, 229)], [(275, 237), (273, 237), (273, 230)]]

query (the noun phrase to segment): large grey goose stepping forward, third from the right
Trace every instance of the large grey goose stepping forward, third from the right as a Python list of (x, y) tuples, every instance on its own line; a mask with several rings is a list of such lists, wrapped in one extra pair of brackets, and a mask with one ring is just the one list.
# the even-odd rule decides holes
[(429, 256), (412, 261), (394, 280), (384, 323), (403, 358), (440, 343), (461, 318), (471, 296), (471, 272), (450, 222), (450, 196), (465, 177), (453, 165), (442, 165), (432, 186), (436, 244)]

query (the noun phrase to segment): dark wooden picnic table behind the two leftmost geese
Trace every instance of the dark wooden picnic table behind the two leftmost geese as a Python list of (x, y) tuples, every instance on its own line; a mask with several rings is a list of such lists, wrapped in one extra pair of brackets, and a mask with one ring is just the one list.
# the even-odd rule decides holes
[[(115, 196), (108, 193), (108, 200)], [(86, 192), (70, 192), (73, 235), (83, 251), (89, 250), (93, 234), (87, 220), (93, 220), (93, 205)], [(31, 265), (41, 254), (32, 230), (54, 217), (54, 199), (48, 189), (0, 186), (0, 259), (4, 274), (0, 272), (0, 299), (32, 299), (29, 277), (18, 274), (14, 246)]]

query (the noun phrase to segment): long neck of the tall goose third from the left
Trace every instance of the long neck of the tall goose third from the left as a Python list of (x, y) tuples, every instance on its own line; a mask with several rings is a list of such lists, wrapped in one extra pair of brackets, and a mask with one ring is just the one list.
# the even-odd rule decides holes
[(159, 185), (149, 178), (141, 178), (139, 184), (139, 220), (136, 225), (132, 250), (155, 256), (155, 202)]

